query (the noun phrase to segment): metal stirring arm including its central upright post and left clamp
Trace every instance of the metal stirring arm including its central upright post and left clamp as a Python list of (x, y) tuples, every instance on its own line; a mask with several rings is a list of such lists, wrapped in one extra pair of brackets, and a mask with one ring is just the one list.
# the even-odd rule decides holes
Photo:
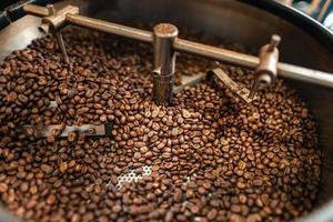
[[(29, 14), (43, 17), (41, 27), (46, 30), (48, 30), (49, 28), (52, 28), (53, 30), (59, 30), (65, 24), (74, 24), (83, 28), (127, 37), (142, 42), (153, 43), (154, 49), (164, 48), (163, 53), (168, 52), (169, 54), (162, 54), (162, 52), (157, 53), (157, 50), (154, 50), (154, 88), (157, 89), (159, 85), (157, 85), (157, 83), (161, 83), (164, 81), (164, 83), (162, 83), (162, 85), (164, 84), (164, 87), (160, 89), (159, 95), (157, 97), (154, 94), (155, 101), (160, 104), (168, 105), (171, 102), (170, 98), (172, 97), (172, 94), (170, 93), (172, 93), (172, 85), (170, 90), (170, 85), (165, 87), (165, 84), (172, 82), (173, 79), (174, 69), (172, 69), (172, 67), (174, 67), (175, 62), (174, 51), (196, 54), (251, 69), (258, 69), (258, 67), (260, 67), (260, 63), (262, 62), (258, 57), (178, 38), (178, 31), (174, 30), (174, 27), (172, 24), (164, 24), (164, 29), (162, 30), (162, 32), (164, 32), (164, 38), (169, 37), (169, 40), (164, 39), (162, 41), (164, 43), (161, 44), (161, 41), (159, 40), (161, 38), (161, 33), (158, 33), (161, 32), (161, 29), (154, 29), (154, 32), (150, 32), (141, 29), (121, 26), (118, 23), (88, 18), (84, 16), (80, 16), (79, 8), (73, 6), (67, 6), (57, 11), (54, 14), (50, 14), (46, 7), (38, 7), (34, 4), (26, 4), (23, 9)], [(157, 64), (159, 64), (160, 67), (157, 67)], [(282, 77), (333, 88), (332, 73), (282, 62), (279, 62), (276, 68), (278, 73)]]

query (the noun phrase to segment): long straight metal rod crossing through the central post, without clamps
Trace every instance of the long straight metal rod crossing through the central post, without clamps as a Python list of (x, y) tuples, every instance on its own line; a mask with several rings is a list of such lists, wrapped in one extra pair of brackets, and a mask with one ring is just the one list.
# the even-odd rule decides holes
[[(24, 11), (31, 14), (44, 17), (44, 10), (41, 7), (24, 6)], [(152, 32), (144, 31), (141, 29), (134, 29), (127, 26), (121, 26), (112, 22), (101, 21), (97, 19), (91, 19), (88, 17), (68, 13), (65, 17), (67, 22), (84, 28), (90, 28), (93, 30), (99, 30), (112, 34), (118, 34), (143, 42), (153, 42)], [(198, 42), (192, 42), (176, 38), (173, 48), (176, 51), (192, 53), (205, 58), (211, 58), (214, 60), (220, 60), (226, 63), (242, 65), (246, 68), (254, 69), (259, 64), (258, 57), (230, 51), (226, 49), (221, 49), (216, 47), (211, 47)], [(301, 68), (293, 64), (279, 63), (278, 72), (280, 75), (301, 80), (304, 82), (310, 82), (319, 85), (333, 88), (333, 74), (322, 71), (316, 71), (312, 69)]]

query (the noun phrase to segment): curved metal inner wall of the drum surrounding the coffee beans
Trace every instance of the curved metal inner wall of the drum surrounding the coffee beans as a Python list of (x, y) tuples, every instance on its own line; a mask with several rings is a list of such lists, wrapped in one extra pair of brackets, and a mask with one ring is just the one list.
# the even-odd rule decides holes
[[(254, 54), (272, 33), (278, 33), (283, 39), (279, 47), (281, 61), (333, 72), (333, 51), (329, 50), (325, 42), (317, 40), (320, 37), (313, 37), (316, 34), (313, 30), (317, 29), (302, 30), (284, 18), (241, 1), (75, 0), (63, 2), (63, 4), (68, 3), (79, 6), (84, 16), (122, 24), (131, 24), (133, 21), (145, 24), (171, 22), (180, 28), (180, 34), (183, 28), (188, 28), (216, 39), (241, 43)], [(0, 59), (13, 50), (24, 48), (32, 39), (41, 37), (42, 34), (36, 29), (39, 24), (40, 19), (29, 16), (0, 31)], [(151, 38), (147, 37), (147, 39)], [(181, 36), (181, 38), (186, 37)], [(303, 78), (313, 79), (311, 75)], [(299, 221), (333, 221), (333, 111), (331, 105), (333, 90), (295, 81), (290, 81), (290, 84), (305, 99), (312, 110), (317, 123), (320, 148), (323, 151), (322, 181), (316, 209)], [(3, 221), (13, 221), (8, 220), (8, 215), (1, 209), (0, 218)]]

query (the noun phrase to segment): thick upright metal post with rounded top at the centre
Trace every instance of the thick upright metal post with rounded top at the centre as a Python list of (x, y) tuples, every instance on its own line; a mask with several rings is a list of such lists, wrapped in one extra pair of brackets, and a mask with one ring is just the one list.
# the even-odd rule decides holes
[(158, 104), (170, 105), (173, 95), (173, 74), (175, 50), (173, 42), (178, 28), (170, 23), (160, 23), (153, 29), (153, 100)]

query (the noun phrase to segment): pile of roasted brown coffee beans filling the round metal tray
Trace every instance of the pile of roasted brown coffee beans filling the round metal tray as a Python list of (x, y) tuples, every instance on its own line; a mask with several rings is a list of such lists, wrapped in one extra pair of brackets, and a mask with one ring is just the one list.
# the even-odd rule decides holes
[[(312, 210), (321, 167), (315, 123), (282, 80), (251, 104), (205, 80), (160, 107), (151, 97), (151, 46), (80, 29), (65, 30), (64, 39), (69, 65), (52, 37), (0, 63), (7, 210), (41, 222), (278, 222)], [(178, 58), (178, 73), (213, 68)], [(252, 71), (224, 69), (250, 88)], [(113, 128), (101, 138), (19, 131), (82, 123)], [(119, 176), (147, 167), (150, 174), (117, 185)]]

